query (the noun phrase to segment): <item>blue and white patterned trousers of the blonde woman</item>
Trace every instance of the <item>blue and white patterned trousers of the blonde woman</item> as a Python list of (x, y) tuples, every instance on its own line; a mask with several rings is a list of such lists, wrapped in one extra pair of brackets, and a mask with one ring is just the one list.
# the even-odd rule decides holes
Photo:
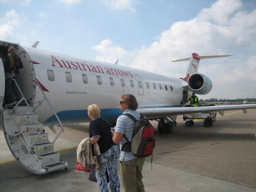
[(111, 146), (103, 154), (98, 155), (99, 170), (95, 171), (99, 189), (102, 192), (108, 192), (105, 172), (107, 170), (109, 177), (109, 186), (112, 192), (120, 191), (120, 182), (117, 174), (116, 160), (118, 155), (118, 146)]

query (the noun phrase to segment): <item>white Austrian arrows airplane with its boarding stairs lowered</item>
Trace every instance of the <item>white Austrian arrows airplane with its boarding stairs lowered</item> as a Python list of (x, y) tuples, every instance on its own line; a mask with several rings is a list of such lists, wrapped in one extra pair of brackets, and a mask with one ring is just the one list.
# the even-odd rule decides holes
[[(170, 133), (177, 115), (209, 111), (256, 108), (256, 104), (184, 107), (192, 92), (206, 94), (211, 80), (198, 73), (199, 60), (218, 56), (192, 53), (184, 78), (175, 78), (101, 61), (89, 60), (0, 41), (0, 107), (2, 127), (13, 156), (28, 171), (44, 174), (66, 168), (54, 152), (54, 142), (63, 131), (62, 124), (88, 122), (87, 106), (98, 104), (101, 117), (113, 124), (118, 115), (121, 94), (133, 94), (138, 111), (158, 121), (158, 131)], [(18, 84), (22, 98), (15, 106), (3, 106), (5, 95), (4, 55), (16, 48), (23, 63)], [(13, 83), (16, 83), (15, 79)], [(5, 98), (6, 99), (6, 98)], [(208, 119), (211, 120), (211, 119)], [(55, 133), (49, 141), (43, 126)], [(54, 125), (60, 125), (56, 131)]]

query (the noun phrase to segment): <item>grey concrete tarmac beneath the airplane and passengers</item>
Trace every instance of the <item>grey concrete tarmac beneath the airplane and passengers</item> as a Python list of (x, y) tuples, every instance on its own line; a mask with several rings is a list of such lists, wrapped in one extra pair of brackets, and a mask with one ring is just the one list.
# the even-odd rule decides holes
[[(256, 192), (255, 117), (255, 109), (226, 111), (206, 128), (202, 120), (186, 127), (178, 116), (172, 134), (159, 134), (156, 128), (152, 164), (147, 157), (142, 171), (145, 191)], [(157, 127), (156, 121), (152, 124)], [(65, 125), (54, 148), (68, 169), (36, 175), (13, 158), (0, 127), (0, 191), (99, 191), (89, 173), (74, 171), (76, 147), (87, 136), (88, 123)]]

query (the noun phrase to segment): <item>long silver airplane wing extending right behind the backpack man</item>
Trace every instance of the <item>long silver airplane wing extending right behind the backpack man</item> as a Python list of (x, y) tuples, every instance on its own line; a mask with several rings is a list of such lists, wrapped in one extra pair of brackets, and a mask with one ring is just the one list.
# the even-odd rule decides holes
[(147, 118), (157, 118), (164, 116), (174, 116), (181, 114), (193, 114), (198, 112), (218, 111), (221, 115), (225, 110), (242, 109), (244, 113), (249, 108), (256, 108), (256, 104), (234, 104), (234, 105), (217, 105), (217, 106), (198, 106), (198, 107), (155, 107), (155, 108), (138, 108), (137, 111), (144, 114)]

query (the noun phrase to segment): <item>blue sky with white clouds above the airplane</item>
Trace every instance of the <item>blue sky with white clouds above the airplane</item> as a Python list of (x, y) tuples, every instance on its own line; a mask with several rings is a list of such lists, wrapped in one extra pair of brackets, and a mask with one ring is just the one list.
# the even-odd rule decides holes
[(0, 0), (0, 40), (213, 83), (199, 98), (256, 98), (256, 0)]

